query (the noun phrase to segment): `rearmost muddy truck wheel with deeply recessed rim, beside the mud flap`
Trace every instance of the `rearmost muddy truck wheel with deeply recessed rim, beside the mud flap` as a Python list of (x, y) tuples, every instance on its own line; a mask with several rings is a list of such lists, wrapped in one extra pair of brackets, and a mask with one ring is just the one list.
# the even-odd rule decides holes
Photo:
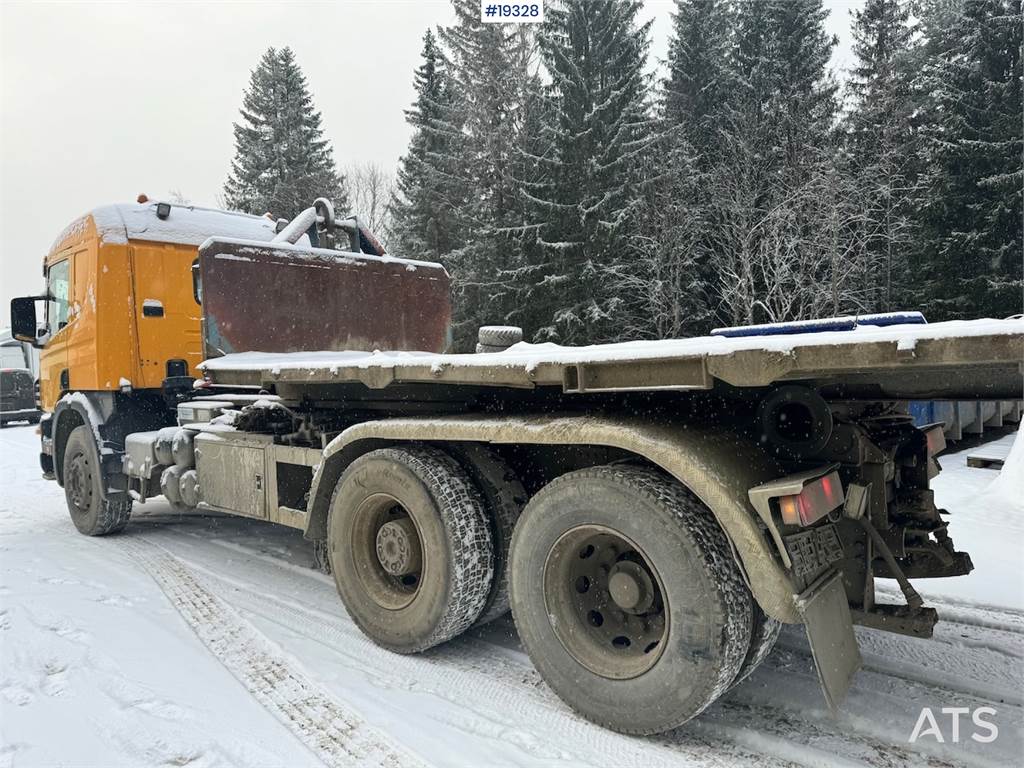
[(542, 488), (512, 541), (512, 613), (538, 671), (588, 719), (658, 733), (699, 714), (751, 644), (752, 597), (711, 511), (660, 471)]

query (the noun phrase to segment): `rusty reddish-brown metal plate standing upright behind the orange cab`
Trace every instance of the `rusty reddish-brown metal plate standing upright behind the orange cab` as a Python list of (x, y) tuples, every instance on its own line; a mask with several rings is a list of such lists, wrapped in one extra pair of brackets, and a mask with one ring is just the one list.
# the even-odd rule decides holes
[(439, 264), (211, 240), (200, 249), (203, 348), (442, 352), (451, 340)]

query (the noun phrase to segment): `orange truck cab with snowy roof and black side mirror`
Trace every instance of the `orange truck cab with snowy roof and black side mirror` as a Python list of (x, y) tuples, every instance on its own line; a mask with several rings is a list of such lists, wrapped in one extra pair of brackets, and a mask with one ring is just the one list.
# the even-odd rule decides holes
[(125, 492), (125, 435), (173, 425), (177, 396), (199, 376), (199, 246), (211, 236), (269, 241), (274, 227), (265, 217), (146, 201), (96, 208), (65, 228), (43, 260), (45, 293), (11, 301), (12, 335), (40, 349), (45, 475), (63, 484), (66, 441), (91, 425), (101, 493)]

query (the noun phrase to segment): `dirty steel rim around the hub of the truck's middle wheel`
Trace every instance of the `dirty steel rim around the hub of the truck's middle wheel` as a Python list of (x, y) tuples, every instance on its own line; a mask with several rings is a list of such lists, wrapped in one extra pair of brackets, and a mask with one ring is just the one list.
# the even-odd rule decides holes
[[(412, 534), (420, 564), (400, 574), (390, 572), (378, 554), (381, 529), (394, 523)], [(350, 554), (359, 584), (374, 603), (387, 610), (401, 610), (416, 599), (426, 575), (427, 561), (416, 518), (393, 496), (374, 494), (356, 508)], [(386, 556), (384, 559), (387, 560)]]

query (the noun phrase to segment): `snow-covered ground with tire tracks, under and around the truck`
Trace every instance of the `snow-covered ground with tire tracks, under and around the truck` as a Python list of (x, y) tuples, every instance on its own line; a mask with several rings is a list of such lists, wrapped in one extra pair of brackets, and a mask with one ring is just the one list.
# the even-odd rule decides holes
[[(1010, 438), (1004, 438), (1009, 440)], [(838, 719), (807, 642), (678, 732), (630, 738), (572, 715), (502, 620), (417, 656), (383, 651), (312, 570), (298, 531), (136, 507), (79, 536), (30, 427), (0, 431), (0, 766), (947, 766), (1024, 755), (1024, 494), (943, 459), (935, 486), (977, 570), (919, 582), (931, 640), (858, 629)], [(1001, 483), (1005, 486), (1019, 482)], [(1015, 504), (1016, 502), (1016, 504)], [(909, 737), (922, 708), (944, 734)], [(942, 708), (970, 714), (952, 742)]]

